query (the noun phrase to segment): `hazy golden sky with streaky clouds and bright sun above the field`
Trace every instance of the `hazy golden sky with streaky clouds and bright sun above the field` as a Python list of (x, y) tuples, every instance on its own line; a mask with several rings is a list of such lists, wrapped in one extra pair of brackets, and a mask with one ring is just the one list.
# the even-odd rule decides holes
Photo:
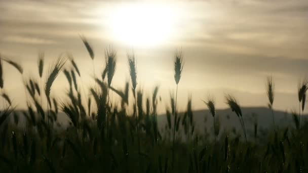
[[(0, 53), (24, 68), (23, 76), (4, 65), (4, 90), (24, 108), (22, 79), (38, 79), (38, 53), (46, 65), (70, 53), (82, 71), (82, 82), (93, 85), (93, 64), (80, 35), (95, 54), (95, 73), (105, 66), (104, 51), (117, 50), (118, 67), (112, 84), (123, 89), (129, 80), (126, 54), (137, 59), (137, 88), (150, 95), (160, 86), (160, 111), (175, 92), (174, 53), (184, 59), (178, 86), (179, 110), (189, 97), (194, 109), (202, 100), (234, 95), (241, 106), (266, 106), (265, 81), (275, 81), (274, 109), (297, 110), (298, 81), (308, 72), (308, 1), (3, 1), (0, 0)], [(70, 69), (69, 63), (65, 68)], [(45, 66), (45, 70), (48, 67)], [(45, 77), (42, 82), (44, 83)], [(52, 95), (63, 101), (63, 74)], [(111, 94), (116, 102), (117, 96)]]

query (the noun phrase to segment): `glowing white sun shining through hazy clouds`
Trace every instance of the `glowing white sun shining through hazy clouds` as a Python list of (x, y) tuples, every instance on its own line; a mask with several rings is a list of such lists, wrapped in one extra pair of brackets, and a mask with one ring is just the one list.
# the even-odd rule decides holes
[(109, 18), (112, 38), (129, 46), (153, 46), (168, 41), (175, 31), (176, 10), (161, 4), (127, 4)]

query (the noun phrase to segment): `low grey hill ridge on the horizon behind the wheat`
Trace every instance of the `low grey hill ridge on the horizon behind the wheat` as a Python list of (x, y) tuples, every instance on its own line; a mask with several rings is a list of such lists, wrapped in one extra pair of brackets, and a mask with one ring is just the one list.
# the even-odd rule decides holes
[[(19, 115), (20, 115), (19, 116), (20, 123), (23, 123), (25, 119), (21, 113), (21, 110), (17, 112), (19, 112)], [(273, 128), (272, 111), (270, 109), (266, 107), (243, 107), (242, 112), (243, 112), (243, 119), (244, 119), (247, 130), (253, 129), (254, 121), (257, 122), (259, 129), (260, 128), (263, 128), (263, 129)], [(183, 112), (180, 112), (179, 115), (182, 116)], [(305, 116), (306, 115), (304, 115), (304, 117)], [(58, 122), (60, 122), (60, 124), (63, 126), (66, 126), (69, 123), (68, 117), (63, 112), (59, 112), (57, 117), (58, 117)], [(204, 133), (205, 128), (207, 128), (207, 131), (210, 131), (213, 128), (213, 117), (210, 114), (209, 110), (207, 109), (194, 110), (193, 117), (194, 117), (196, 132)], [(221, 129), (225, 129), (227, 131), (230, 131), (233, 128), (236, 128), (237, 131), (242, 130), (237, 115), (234, 112), (232, 112), (230, 109), (216, 110), (215, 117), (219, 117)], [(173, 117), (171, 118), (173, 119)], [(274, 110), (274, 118), (275, 118), (276, 126), (279, 126), (279, 127), (293, 126), (294, 127), (291, 113), (288, 113), (285, 111)], [(11, 122), (14, 121), (13, 115), (10, 116), (10, 120)], [(158, 115), (158, 125), (161, 131), (165, 129), (167, 125), (167, 118), (165, 114)]]

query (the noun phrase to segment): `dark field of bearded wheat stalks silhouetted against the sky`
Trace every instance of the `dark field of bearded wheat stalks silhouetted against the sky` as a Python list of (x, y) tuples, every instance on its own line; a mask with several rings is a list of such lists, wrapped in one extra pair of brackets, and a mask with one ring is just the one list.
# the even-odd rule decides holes
[[(93, 49), (83, 39), (91, 59)], [(92, 53), (91, 53), (92, 52)], [(225, 96), (225, 103), (239, 118), (241, 132), (231, 132), (217, 121), (215, 100), (209, 97), (205, 104), (213, 117), (213, 141), (209, 133), (199, 133), (194, 120), (193, 103), (188, 99), (183, 113), (177, 113), (177, 91), (171, 94), (167, 107), (167, 127), (158, 128), (157, 107), (160, 104), (159, 86), (146, 95), (137, 85), (137, 64), (134, 54), (127, 55), (131, 85), (123, 89), (112, 86), (117, 67), (117, 54), (106, 50), (106, 68), (101, 77), (94, 79), (90, 95), (81, 95), (77, 63), (64, 64), (67, 58), (58, 58), (44, 73), (42, 56), (38, 62), (38, 76), (46, 76), (46, 86), (38, 84), (35, 77), (24, 78), (29, 95), (27, 109), (15, 110), (15, 102), (8, 93), (0, 111), (0, 170), (1, 172), (305, 172), (308, 165), (308, 124), (300, 113), (293, 112), (294, 125), (276, 126), (273, 131), (246, 131), (245, 112), (237, 99)], [(92, 58), (93, 57), (93, 58)], [(182, 54), (175, 53), (174, 79), (178, 86), (183, 69)], [(0, 59), (0, 79), (2, 79)], [(12, 65), (12, 64), (9, 64)], [(173, 68), (173, 67), (172, 67)], [(63, 70), (62, 70), (63, 69)], [(61, 73), (61, 70), (63, 73)], [(52, 86), (58, 75), (67, 79), (65, 96), (53, 97)], [(1, 80), (0, 80), (1, 81)], [(1, 82), (0, 82), (1, 84)], [(138, 86), (138, 88), (137, 88)], [(271, 109), (274, 103), (274, 82), (267, 80), (266, 91)], [(299, 103), (304, 101), (306, 82), (299, 85)], [(111, 90), (110, 90), (111, 89)], [(45, 95), (42, 93), (45, 90)], [(119, 103), (109, 101), (109, 92), (120, 96)], [(131, 103), (130, 93), (134, 103)], [(264, 96), (265, 97), (265, 96)], [(47, 99), (47, 113), (38, 98)], [(113, 106), (112, 106), (113, 105)], [(115, 105), (115, 106), (114, 106)], [(133, 116), (129, 114), (134, 106)], [(300, 110), (303, 110), (300, 109)], [(61, 124), (61, 112), (69, 124)], [(47, 114), (47, 118), (46, 118)], [(223, 116), (223, 115), (219, 115)], [(24, 117), (24, 118), (21, 118)], [(173, 118), (173, 119), (172, 119)], [(13, 119), (14, 121), (11, 121)], [(22, 120), (25, 121), (22, 124)], [(173, 121), (173, 123), (172, 123)], [(107, 125), (108, 124), (108, 125)], [(273, 126), (275, 124), (273, 123)], [(212, 134), (212, 133), (211, 133)], [(243, 138), (241, 136), (244, 136)], [(263, 140), (265, 139), (265, 140)]]

